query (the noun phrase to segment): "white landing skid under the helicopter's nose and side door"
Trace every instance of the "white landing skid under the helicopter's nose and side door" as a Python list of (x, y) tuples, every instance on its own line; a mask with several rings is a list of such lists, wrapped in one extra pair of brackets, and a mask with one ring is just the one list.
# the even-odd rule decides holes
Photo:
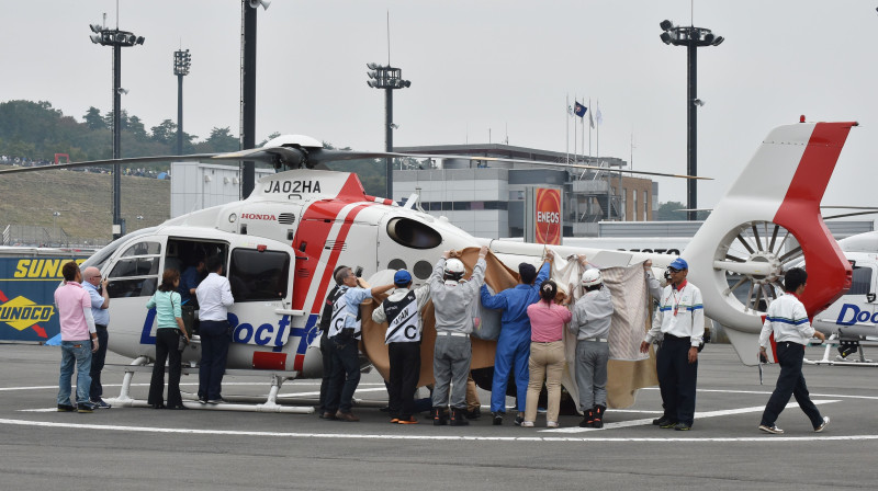
[[(137, 400), (131, 397), (131, 382), (134, 379), (135, 373), (148, 373), (153, 374), (153, 367), (147, 366), (149, 363), (149, 358), (146, 356), (140, 356), (133, 361), (130, 365), (105, 365), (106, 367), (110, 366), (122, 366), (125, 376), (122, 379), (122, 388), (120, 389), (119, 397), (115, 399), (108, 399), (108, 402), (115, 407), (120, 408), (149, 408), (149, 404), (145, 400)], [(198, 376), (198, 367), (189, 366), (182, 368), (183, 375), (195, 375)], [(221, 403), (221, 404), (202, 404), (198, 401), (198, 395), (189, 393), (189, 392), (181, 392), (184, 397), (189, 397), (193, 400), (184, 400), (183, 406), (189, 409), (202, 409), (202, 410), (212, 410), (212, 411), (244, 411), (244, 412), (283, 412), (283, 413), (295, 413), (295, 414), (311, 414), (314, 412), (314, 407), (294, 407), (294, 406), (281, 406), (278, 403), (278, 392), (281, 389), (284, 380), (293, 379), (299, 376), (299, 372), (257, 372), (257, 370), (226, 370), (227, 376), (266, 376), (268, 375), (271, 378), (271, 387), (269, 389), (268, 396), (264, 398), (255, 398), (255, 397), (235, 397), (235, 396), (224, 396), (223, 398), (228, 401), (254, 401), (254, 400), (262, 400), (262, 403)]]

